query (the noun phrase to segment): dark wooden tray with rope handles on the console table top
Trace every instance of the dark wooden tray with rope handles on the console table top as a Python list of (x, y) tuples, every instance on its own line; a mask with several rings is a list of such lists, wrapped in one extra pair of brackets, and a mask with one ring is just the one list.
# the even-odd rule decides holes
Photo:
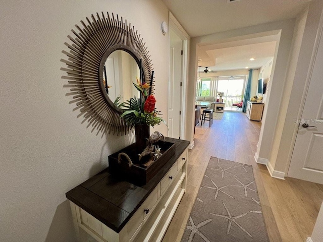
[[(136, 144), (132, 144), (112, 155), (109, 155), (109, 170), (113, 175), (117, 175), (120, 178), (124, 178), (130, 183), (137, 186), (145, 185), (154, 175), (159, 171), (161, 167), (175, 155), (175, 144), (171, 142), (158, 141), (154, 145), (160, 147), (160, 153), (162, 154), (155, 161), (150, 155), (144, 156), (139, 161), (139, 154), (136, 152)], [(121, 162), (118, 163), (119, 153), (126, 153), (131, 161), (132, 166), (129, 167), (128, 160), (122, 156)]]

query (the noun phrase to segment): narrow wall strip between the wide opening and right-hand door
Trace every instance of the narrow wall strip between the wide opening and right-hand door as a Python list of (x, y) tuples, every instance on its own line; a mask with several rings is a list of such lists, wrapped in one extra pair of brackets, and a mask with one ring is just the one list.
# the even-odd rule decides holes
[[(289, 78), (292, 78), (292, 83), (286, 84), (284, 91), (284, 101), (282, 105), (280, 119), (283, 127), (280, 127), (279, 132), (276, 135), (281, 135), (279, 146), (277, 146), (274, 152), (277, 152), (277, 158), (275, 163), (275, 170), (285, 172), (288, 171), (292, 151), (296, 139), (296, 131), (298, 125), (294, 124), (294, 118), (300, 118), (301, 111), (300, 107), (303, 106), (302, 95), (304, 93), (306, 76), (309, 69), (310, 59), (314, 47), (315, 38), (317, 37), (317, 30), (319, 28), (319, 20), (322, 18), (323, 1), (313, 0), (310, 2), (308, 13), (301, 13), (299, 16), (298, 25), (304, 25), (304, 31), (296, 33), (295, 41), (298, 39), (298, 47), (295, 51), (299, 52), (299, 56), (292, 56), (291, 63), (293, 64), (291, 71), (289, 72)], [(307, 15), (306, 15), (307, 13)], [(303, 34), (301, 43), (299, 41), (299, 34)], [(290, 97), (289, 97), (290, 95)], [(286, 98), (285, 98), (286, 96)], [(289, 97), (289, 98), (288, 98)], [(273, 159), (271, 159), (272, 161)]]

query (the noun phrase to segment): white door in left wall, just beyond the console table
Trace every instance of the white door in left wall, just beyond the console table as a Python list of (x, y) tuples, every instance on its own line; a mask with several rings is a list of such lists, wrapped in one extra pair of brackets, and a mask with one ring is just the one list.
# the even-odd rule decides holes
[(168, 136), (180, 136), (181, 75), (182, 75), (182, 39), (170, 30), (170, 81)]

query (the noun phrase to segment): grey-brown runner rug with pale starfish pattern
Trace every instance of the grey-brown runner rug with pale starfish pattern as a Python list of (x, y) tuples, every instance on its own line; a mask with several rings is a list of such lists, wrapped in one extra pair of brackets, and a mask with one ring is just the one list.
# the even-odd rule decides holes
[(210, 158), (184, 241), (269, 241), (251, 165)]

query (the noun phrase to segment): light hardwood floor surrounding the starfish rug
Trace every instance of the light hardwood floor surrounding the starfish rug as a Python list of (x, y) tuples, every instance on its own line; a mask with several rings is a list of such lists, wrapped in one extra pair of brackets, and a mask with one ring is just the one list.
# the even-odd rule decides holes
[(187, 191), (164, 236), (164, 242), (180, 241), (210, 156), (250, 164), (258, 189), (270, 241), (305, 241), (311, 235), (323, 200), (323, 185), (286, 177), (272, 178), (254, 154), (260, 122), (239, 112), (225, 112), (222, 120), (197, 126), (195, 146), (189, 150)]

